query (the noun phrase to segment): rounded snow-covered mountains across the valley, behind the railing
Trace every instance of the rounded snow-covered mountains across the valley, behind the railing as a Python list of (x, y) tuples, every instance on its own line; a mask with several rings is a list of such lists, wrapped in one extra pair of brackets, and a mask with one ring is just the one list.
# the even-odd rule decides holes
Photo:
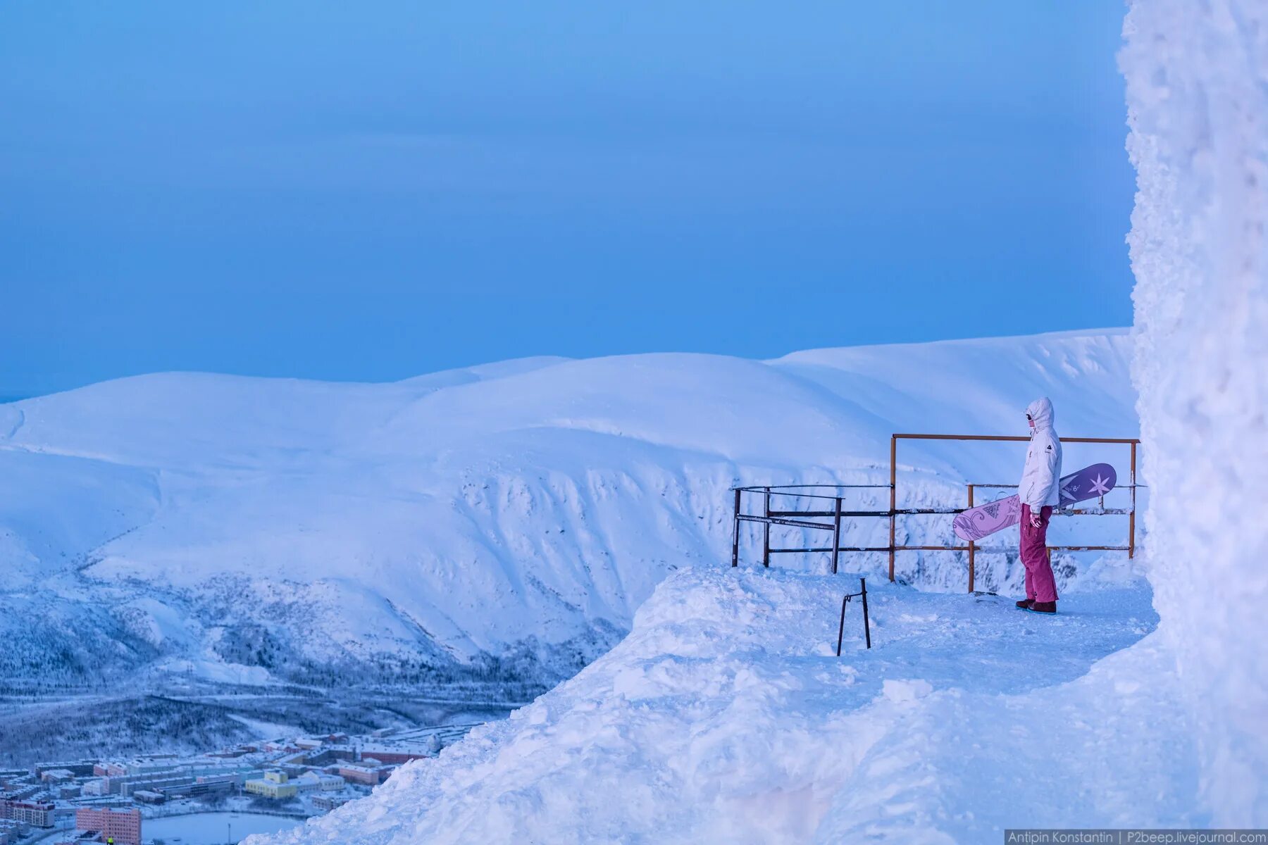
[[(725, 557), (737, 481), (885, 481), (891, 432), (1021, 433), (1040, 394), (1063, 433), (1134, 436), (1129, 347), (1106, 331), (394, 384), (158, 374), (0, 405), (0, 627), (18, 644), (0, 678), (550, 683), (668, 573)], [(899, 457), (908, 500), (956, 504), (965, 478), (1013, 481), (1021, 448)], [(1122, 455), (1066, 451), (1106, 457)], [(851, 536), (883, 545), (881, 523)], [(955, 555), (903, 565), (962, 589)], [(992, 566), (988, 585), (1014, 575)]]

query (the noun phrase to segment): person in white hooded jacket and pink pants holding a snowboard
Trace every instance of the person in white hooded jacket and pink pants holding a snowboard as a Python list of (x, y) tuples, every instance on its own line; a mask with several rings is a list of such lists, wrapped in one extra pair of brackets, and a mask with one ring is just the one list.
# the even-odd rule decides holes
[(1026, 568), (1026, 598), (1017, 607), (1056, 613), (1056, 580), (1047, 557), (1047, 521), (1061, 502), (1061, 441), (1052, 427), (1052, 402), (1036, 399), (1026, 408), (1030, 448), (1018, 495), (1022, 500), (1021, 557)]

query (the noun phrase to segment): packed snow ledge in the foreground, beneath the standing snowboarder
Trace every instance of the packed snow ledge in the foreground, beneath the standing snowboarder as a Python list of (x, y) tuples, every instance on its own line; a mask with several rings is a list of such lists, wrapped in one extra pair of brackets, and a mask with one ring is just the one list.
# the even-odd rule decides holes
[(851, 602), (838, 659), (857, 584), (676, 573), (620, 645), (510, 720), (249, 842), (997, 842), (1003, 827), (1198, 821), (1142, 581), (1069, 593), (1045, 617), (876, 580), (874, 649)]

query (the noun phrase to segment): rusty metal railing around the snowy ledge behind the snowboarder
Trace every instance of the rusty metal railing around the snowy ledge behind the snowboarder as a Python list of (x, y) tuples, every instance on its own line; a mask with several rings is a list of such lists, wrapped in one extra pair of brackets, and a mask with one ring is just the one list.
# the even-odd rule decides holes
[[(739, 565), (739, 530), (742, 522), (754, 522), (762, 526), (762, 565), (771, 565), (771, 555), (789, 554), (815, 554), (827, 552), (832, 557), (832, 571), (837, 571), (837, 565), (842, 552), (886, 552), (889, 555), (889, 580), (894, 580), (894, 561), (902, 551), (956, 551), (966, 552), (969, 556), (969, 592), (974, 592), (976, 579), (976, 555), (998, 554), (1012, 551), (1009, 546), (979, 546), (973, 541), (951, 546), (909, 546), (895, 542), (898, 518), (903, 516), (932, 516), (932, 514), (957, 514), (974, 507), (976, 490), (984, 489), (1011, 489), (1016, 484), (980, 484), (969, 483), (965, 485), (967, 504), (964, 508), (899, 508), (898, 507), (898, 441), (900, 440), (956, 440), (956, 441), (994, 441), (994, 442), (1026, 442), (1028, 437), (1013, 437), (1002, 435), (891, 435), (889, 442), (889, 484), (776, 484), (766, 486), (738, 486), (733, 488), (734, 502), (734, 528), (732, 533), (730, 565)], [(1063, 443), (1110, 443), (1126, 446), (1129, 451), (1129, 483), (1118, 485), (1116, 489), (1127, 489), (1130, 504), (1127, 508), (1106, 508), (1104, 497), (1099, 499), (1096, 508), (1065, 508), (1056, 511), (1054, 516), (1126, 516), (1127, 517), (1127, 545), (1125, 546), (1049, 546), (1052, 551), (1126, 551), (1127, 557), (1136, 554), (1136, 448), (1140, 441), (1126, 437), (1063, 437)], [(889, 490), (889, 509), (861, 511), (847, 508), (844, 499), (846, 490)], [(747, 513), (746, 505), (757, 499), (761, 503), (758, 512)], [(795, 507), (798, 505), (798, 507)], [(888, 546), (842, 546), (841, 521), (874, 518), (889, 521)], [(831, 519), (831, 521), (828, 521)], [(771, 526), (785, 526), (792, 528), (810, 528), (815, 531), (832, 532), (831, 546), (810, 547), (772, 547)]]

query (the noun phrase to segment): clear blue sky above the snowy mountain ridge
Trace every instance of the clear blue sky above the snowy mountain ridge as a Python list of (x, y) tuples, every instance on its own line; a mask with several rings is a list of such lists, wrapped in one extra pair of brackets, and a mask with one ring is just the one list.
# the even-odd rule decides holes
[(0, 395), (1131, 322), (1106, 0), (0, 8)]

